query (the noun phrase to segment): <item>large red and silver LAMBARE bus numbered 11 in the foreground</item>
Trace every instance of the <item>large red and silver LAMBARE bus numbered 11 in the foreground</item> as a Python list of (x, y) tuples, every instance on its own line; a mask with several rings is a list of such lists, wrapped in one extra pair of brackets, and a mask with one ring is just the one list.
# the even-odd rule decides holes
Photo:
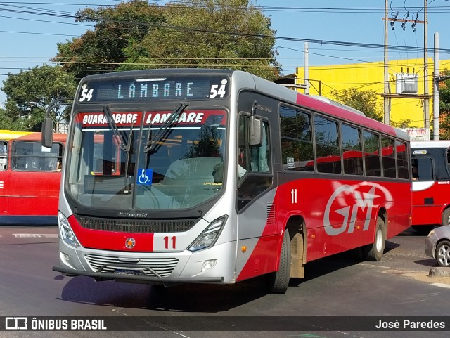
[(266, 275), (283, 293), (307, 262), (359, 247), (379, 260), (411, 226), (404, 131), (247, 72), (92, 75), (70, 121), (54, 271), (157, 285)]

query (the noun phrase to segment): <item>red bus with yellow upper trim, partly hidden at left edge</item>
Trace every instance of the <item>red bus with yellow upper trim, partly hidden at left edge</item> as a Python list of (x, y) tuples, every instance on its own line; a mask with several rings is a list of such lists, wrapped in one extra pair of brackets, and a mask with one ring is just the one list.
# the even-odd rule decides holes
[(51, 148), (41, 133), (0, 130), (0, 224), (58, 223), (58, 195), (66, 134)]

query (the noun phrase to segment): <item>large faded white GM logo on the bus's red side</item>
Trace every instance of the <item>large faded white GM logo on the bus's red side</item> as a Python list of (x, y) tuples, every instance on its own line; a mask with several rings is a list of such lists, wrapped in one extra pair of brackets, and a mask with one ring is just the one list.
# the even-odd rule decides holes
[[(369, 189), (367, 190), (367, 186)], [(323, 215), (323, 225), (325, 226), (325, 232), (330, 236), (339, 235), (347, 231), (347, 233), (353, 233), (354, 226), (356, 224), (356, 216), (359, 211), (364, 213), (363, 231), (368, 230), (372, 217), (373, 200), (380, 195), (375, 194), (376, 188), (379, 188), (380, 193), (384, 193), (385, 200), (387, 201), (386, 207), (389, 208), (392, 205), (392, 196), (389, 191), (378, 184), (362, 184), (357, 186), (349, 186), (347, 184), (340, 186), (335, 190), (333, 195), (330, 196), (326, 204), (325, 214)], [(364, 189), (361, 189), (363, 188)], [(341, 222), (331, 222), (330, 215), (339, 214), (342, 217)], [(334, 226), (332, 226), (332, 223)], [(336, 227), (336, 224), (340, 226)], [(342, 225), (341, 225), (342, 224)]]

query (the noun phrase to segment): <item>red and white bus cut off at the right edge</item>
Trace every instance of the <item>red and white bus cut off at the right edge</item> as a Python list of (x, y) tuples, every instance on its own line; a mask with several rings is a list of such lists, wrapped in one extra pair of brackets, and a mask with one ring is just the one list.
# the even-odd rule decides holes
[(411, 141), (412, 227), (428, 234), (450, 224), (450, 141)]

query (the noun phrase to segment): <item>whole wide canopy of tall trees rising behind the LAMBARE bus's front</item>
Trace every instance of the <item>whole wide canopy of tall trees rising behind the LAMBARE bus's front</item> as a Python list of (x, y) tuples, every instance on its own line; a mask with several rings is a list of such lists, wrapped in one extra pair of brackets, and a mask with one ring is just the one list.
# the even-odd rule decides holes
[(58, 44), (53, 58), (77, 79), (164, 67), (233, 68), (275, 79), (281, 70), (270, 18), (250, 0), (181, 0), (165, 6), (135, 0), (84, 9), (77, 21), (96, 26)]

